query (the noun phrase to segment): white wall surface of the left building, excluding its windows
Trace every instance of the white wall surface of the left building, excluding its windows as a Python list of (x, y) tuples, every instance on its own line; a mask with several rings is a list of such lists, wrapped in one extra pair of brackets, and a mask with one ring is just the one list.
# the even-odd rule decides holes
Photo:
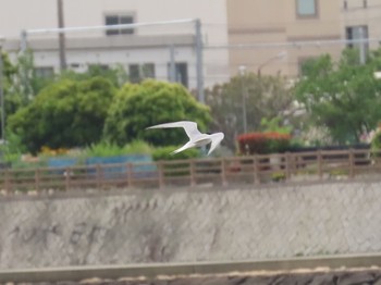
[[(224, 0), (63, 0), (64, 24), (66, 27), (98, 26), (105, 24), (105, 15), (131, 13), (135, 22), (157, 22), (182, 18), (200, 18), (202, 39), (206, 45), (228, 42), (226, 5)], [(23, 29), (56, 28), (57, 1), (54, 0), (0, 0), (0, 35), (8, 41), (20, 40)], [(195, 35), (194, 23), (165, 26), (149, 26), (136, 28), (135, 34), (112, 37), (139, 37), (161, 35)], [(105, 38), (105, 30), (67, 33), (66, 39)], [(111, 36), (108, 36), (111, 38)], [(28, 42), (34, 40), (57, 40), (58, 35), (29, 35)], [(13, 45), (14, 47), (15, 45)], [(67, 45), (69, 46), (69, 45)], [(7, 48), (7, 45), (5, 45)], [(169, 47), (132, 48), (119, 47), (105, 49), (93, 46), (87, 50), (75, 50), (67, 47), (66, 58), (72, 63), (101, 62), (106, 64), (153, 62), (157, 64), (157, 77), (168, 78), (167, 63), (170, 60)], [(194, 44), (176, 48), (176, 61), (188, 62), (189, 88), (196, 88), (196, 54)], [(36, 50), (36, 65), (53, 64), (59, 67), (58, 50)], [(210, 69), (208, 64), (221, 65), (221, 69)], [(229, 78), (229, 52), (218, 50), (205, 52), (204, 55), (205, 86)], [(221, 76), (222, 75), (222, 76)]]

